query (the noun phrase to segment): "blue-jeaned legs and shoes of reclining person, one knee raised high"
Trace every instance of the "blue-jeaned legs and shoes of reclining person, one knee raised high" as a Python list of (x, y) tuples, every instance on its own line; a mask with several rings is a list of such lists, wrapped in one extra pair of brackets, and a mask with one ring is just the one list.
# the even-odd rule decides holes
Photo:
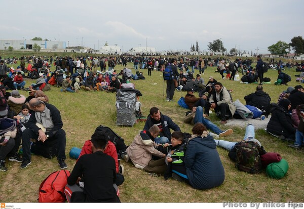
[(207, 115), (203, 114), (202, 107), (193, 107), (192, 112), (189, 113), (188, 115), (186, 115), (186, 117), (184, 118), (183, 121), (184, 121), (184, 123), (189, 123), (189, 124), (193, 124), (193, 125), (198, 122), (203, 123), (207, 129), (209, 129), (213, 133), (215, 133), (216, 136), (213, 135), (214, 138), (230, 136), (233, 133), (232, 129), (227, 129), (226, 131), (220, 130), (216, 126), (216, 124), (214, 124), (210, 120), (206, 119), (205, 118), (206, 116)]

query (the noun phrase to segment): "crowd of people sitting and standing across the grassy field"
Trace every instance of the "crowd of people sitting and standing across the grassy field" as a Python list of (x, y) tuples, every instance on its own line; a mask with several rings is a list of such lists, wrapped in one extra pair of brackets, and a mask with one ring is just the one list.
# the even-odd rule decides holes
[[(225, 78), (223, 72), (227, 70), (227, 78), (234, 80), (238, 67), (243, 69), (242, 60), (237, 59), (232, 62), (231, 68), (230, 65), (226, 65), (225, 60), (216, 59), (211, 62), (205, 58), (199, 58), (197, 61), (195, 59), (179, 60), (179, 63), (175, 58), (169, 60), (153, 57), (146, 59), (142, 57), (132, 59), (80, 57), (75, 60), (70, 57), (57, 57), (55, 60), (52, 57), (50, 60), (39, 57), (33, 60), (35, 60), (34, 63), (31, 63), (27, 58), (21, 57), (21, 66), (16, 70), (11, 70), (1, 60), (0, 99), (1, 105), (4, 106), (6, 103), (6, 108), (0, 109), (2, 117), (0, 118), (2, 126), (0, 129), (0, 136), (2, 136), (0, 171), (8, 171), (5, 165), (6, 157), (10, 161), (21, 162), (20, 169), (27, 168), (31, 164), (31, 152), (46, 158), (56, 156), (60, 169), (67, 169), (66, 133), (62, 129), (61, 114), (54, 105), (49, 103), (49, 98), (45, 93), (50, 90), (48, 86), (52, 85), (50, 80), (52, 77), (58, 79), (58, 74), (63, 73), (65, 76), (60, 85), (62, 92), (76, 93), (84, 90), (115, 93), (132, 77), (123, 70), (117, 73), (114, 68), (117, 64), (127, 66), (127, 62), (131, 61), (135, 70), (146, 64), (148, 75), (151, 75), (151, 69), (165, 72), (169, 66), (172, 79), (166, 80), (166, 101), (173, 101), (177, 88), (176, 81), (178, 81), (182, 86), (181, 90), (186, 92), (185, 103), (189, 107), (184, 122), (192, 124), (193, 129), (192, 134), (186, 136), (186, 133), (181, 132), (178, 124), (170, 116), (162, 114), (159, 108), (152, 107), (142, 131), (135, 136), (126, 149), (126, 153), (121, 157), (126, 161), (131, 160), (137, 169), (155, 173), (158, 176), (164, 175), (166, 180), (172, 177), (196, 189), (210, 189), (224, 182), (224, 168), (216, 146), (232, 150), (236, 143), (217, 140), (230, 136), (233, 130), (221, 130), (211, 121), (209, 113), (210, 109), (213, 109), (220, 123), (225, 124), (227, 120), (235, 116), (237, 106), (233, 102), (232, 90), (225, 88), (213, 76), (209, 76), (208, 82), (205, 83), (201, 75), (206, 73), (206, 68), (210, 66), (210, 63), (216, 63), (222, 78)], [(28, 62), (27, 68), (25, 61)], [(56, 70), (51, 72), (50, 66), (53, 61)], [(249, 60), (246, 60), (247, 68), (251, 69), (251, 64)], [(254, 93), (245, 96), (246, 105), (263, 110), (265, 115), (272, 114), (267, 131), (282, 140), (294, 141), (294, 144), (289, 144), (289, 146), (300, 149), (304, 138), (304, 88), (300, 85), (295, 88), (289, 87), (280, 95), (278, 103), (271, 105), (271, 98), (264, 92), (262, 86), (262, 65), (263, 62), (258, 56), (257, 65), (250, 73), (255, 76), (254, 80), (258, 77), (260, 82)], [(196, 77), (193, 76), (195, 69), (200, 72)], [(35, 83), (28, 88), (23, 80), (25, 74), (36, 79)], [(55, 83), (58, 85), (58, 81)], [(12, 90), (12, 92), (7, 92), (7, 90)], [(19, 90), (28, 91), (29, 96), (25, 98)], [(194, 92), (198, 92), (199, 97), (196, 97)], [(172, 134), (171, 130), (173, 130)], [(32, 140), (34, 142), (31, 142)], [(254, 141), (261, 146), (254, 137), (253, 126), (247, 127), (243, 141)], [(21, 142), (22, 157), (17, 153)], [(109, 147), (113, 148), (113, 146), (104, 133), (94, 133), (90, 146), (92, 154), (80, 156), (68, 178), (67, 183), (71, 190), (77, 191), (72, 200), (119, 202), (116, 186), (124, 181), (123, 177), (118, 175), (119, 156), (107, 152)], [(102, 166), (96, 166), (97, 163)], [(107, 178), (100, 176), (103, 172), (106, 173)], [(87, 176), (90, 178), (86, 178)], [(94, 178), (99, 178), (100, 182), (96, 184), (96, 181), (93, 181)], [(80, 191), (78, 187), (73, 187), (80, 180), (86, 185), (85, 190)], [(108, 195), (96, 194), (94, 192), (96, 189)]]

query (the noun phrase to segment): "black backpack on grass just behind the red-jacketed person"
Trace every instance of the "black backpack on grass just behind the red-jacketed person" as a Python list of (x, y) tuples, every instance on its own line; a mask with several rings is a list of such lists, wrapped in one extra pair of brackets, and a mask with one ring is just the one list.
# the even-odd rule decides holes
[(116, 151), (118, 153), (123, 153), (126, 151), (127, 146), (125, 144), (125, 140), (122, 137), (120, 137), (118, 134), (113, 132), (113, 130), (111, 130), (110, 128), (99, 125), (99, 127), (96, 128), (94, 134), (97, 132), (102, 132), (106, 136), (108, 136), (109, 141), (111, 141), (113, 144), (115, 144)]

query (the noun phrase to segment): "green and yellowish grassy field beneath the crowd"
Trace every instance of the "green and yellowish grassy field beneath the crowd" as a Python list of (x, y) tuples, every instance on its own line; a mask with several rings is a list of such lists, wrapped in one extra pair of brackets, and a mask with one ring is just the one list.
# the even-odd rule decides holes
[[(253, 63), (255, 66), (255, 63)], [(128, 63), (132, 69), (132, 63)], [(122, 66), (116, 66), (119, 71)], [(205, 82), (210, 75), (218, 81), (222, 81), (227, 89), (233, 89), (232, 97), (239, 99), (243, 104), (244, 96), (255, 91), (256, 85), (243, 84), (237, 81), (221, 80), (219, 73), (215, 73), (215, 67), (208, 67), (202, 77)], [(147, 70), (142, 70), (145, 80), (132, 81), (136, 89), (143, 94), (139, 101), (142, 104), (143, 115), (147, 116), (151, 107), (159, 107), (163, 114), (170, 116), (183, 132), (191, 133), (192, 126), (182, 122), (187, 110), (178, 106), (177, 101), (185, 93), (175, 92), (174, 102), (165, 102), (163, 96), (163, 76), (161, 72), (153, 71), (151, 76)], [(197, 70), (196, 70), (197, 73)], [(295, 86), (294, 69), (287, 71), (292, 77), (289, 86)], [(263, 85), (265, 92), (269, 93), (272, 102), (277, 102), (279, 94), (287, 89), (287, 86), (275, 86), (273, 83), (277, 78), (276, 70), (269, 70), (264, 74), (271, 78), (271, 85)], [(33, 80), (26, 79), (26, 87)], [(157, 83), (155, 85), (155, 83)], [(166, 85), (165, 85), (166, 88)], [(28, 93), (21, 91), (27, 96)], [(50, 103), (55, 105), (61, 112), (63, 129), (66, 132), (66, 163), (68, 170), (72, 171), (75, 160), (68, 157), (72, 147), (81, 148), (85, 140), (90, 139), (99, 124), (112, 128), (125, 139), (129, 145), (134, 136), (142, 130), (144, 123), (137, 123), (133, 127), (116, 126), (116, 95), (105, 92), (62, 93), (59, 88), (52, 87), (46, 92)], [(197, 95), (197, 93), (196, 93)], [(211, 119), (219, 127), (219, 119), (211, 114)], [(233, 128), (233, 127), (232, 127)], [(226, 137), (229, 141), (240, 141), (244, 136), (244, 129), (233, 128), (234, 134)], [(172, 179), (165, 181), (163, 177), (154, 177), (146, 172), (138, 170), (132, 162), (121, 163), (125, 167), (125, 182), (120, 186), (120, 199), (122, 202), (302, 202), (303, 194), (303, 152), (287, 148), (286, 143), (265, 133), (264, 130), (256, 130), (256, 138), (269, 152), (278, 152), (289, 163), (289, 171), (281, 180), (271, 179), (262, 172), (251, 175), (240, 172), (235, 168), (235, 163), (227, 156), (228, 152), (218, 148), (220, 158), (225, 169), (225, 181), (217, 188), (205, 191), (193, 189), (185, 183), (179, 183)], [(32, 163), (28, 168), (20, 170), (20, 163), (9, 162), (8, 172), (0, 173), (1, 202), (37, 202), (38, 189), (41, 182), (52, 172), (59, 170), (57, 160), (45, 159), (42, 156), (32, 156)]]

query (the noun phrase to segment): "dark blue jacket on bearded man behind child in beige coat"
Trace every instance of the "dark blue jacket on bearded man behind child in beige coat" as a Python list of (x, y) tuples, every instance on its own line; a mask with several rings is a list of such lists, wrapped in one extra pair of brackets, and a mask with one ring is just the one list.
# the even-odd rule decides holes
[[(149, 131), (149, 129), (154, 126), (154, 124), (156, 121), (151, 118), (150, 114), (147, 116), (147, 120), (144, 124), (143, 130), (145, 131)], [(163, 136), (167, 137), (169, 140), (171, 139), (171, 132), (170, 129), (172, 129), (173, 131), (180, 131), (180, 128), (177, 126), (177, 124), (175, 122), (172, 121), (172, 119), (170, 117), (168, 117), (167, 115), (163, 115), (161, 113), (161, 119), (160, 121), (158, 121), (158, 123), (162, 123), (162, 127), (163, 127)]]

